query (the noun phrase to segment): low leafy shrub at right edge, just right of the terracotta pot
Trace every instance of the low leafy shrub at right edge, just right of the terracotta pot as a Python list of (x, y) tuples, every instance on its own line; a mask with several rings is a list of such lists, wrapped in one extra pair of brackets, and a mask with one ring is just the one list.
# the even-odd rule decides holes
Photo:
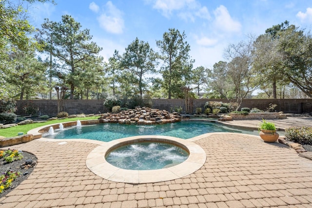
[(285, 136), (293, 142), (312, 145), (312, 127), (290, 127), (285, 129)]

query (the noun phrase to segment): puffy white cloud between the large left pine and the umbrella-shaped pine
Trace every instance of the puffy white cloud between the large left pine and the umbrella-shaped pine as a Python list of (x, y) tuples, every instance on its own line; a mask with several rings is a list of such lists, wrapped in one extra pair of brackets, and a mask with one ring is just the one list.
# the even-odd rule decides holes
[(122, 19), (122, 12), (117, 7), (108, 1), (105, 4), (105, 11), (98, 18), (98, 23), (101, 28), (107, 32), (114, 34), (122, 34), (124, 28), (124, 20)]

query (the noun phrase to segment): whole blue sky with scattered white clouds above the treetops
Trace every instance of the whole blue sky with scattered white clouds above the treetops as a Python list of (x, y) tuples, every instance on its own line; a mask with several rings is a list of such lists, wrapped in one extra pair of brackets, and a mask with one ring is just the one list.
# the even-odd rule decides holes
[(102, 47), (107, 61), (115, 50), (123, 54), (136, 38), (158, 51), (169, 28), (184, 31), (195, 59), (194, 68), (225, 60), (229, 44), (259, 36), (267, 28), (288, 20), (300, 29), (311, 30), (312, 0), (55, 0), (56, 5), (35, 3), (28, 11), (30, 23), (41, 27), (44, 19), (61, 21), (71, 15), (92, 41)]

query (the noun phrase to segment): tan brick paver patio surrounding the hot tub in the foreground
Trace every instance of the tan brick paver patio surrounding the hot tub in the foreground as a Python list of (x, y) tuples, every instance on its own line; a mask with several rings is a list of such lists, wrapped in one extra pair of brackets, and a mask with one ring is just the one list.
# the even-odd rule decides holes
[[(58, 141), (59, 142), (59, 141)], [(87, 169), (97, 144), (34, 140), (16, 145), (38, 157), (27, 180), (0, 198), (1, 208), (308, 208), (312, 161), (260, 137), (211, 133), (195, 141), (204, 166), (181, 179), (149, 184), (107, 181)]]

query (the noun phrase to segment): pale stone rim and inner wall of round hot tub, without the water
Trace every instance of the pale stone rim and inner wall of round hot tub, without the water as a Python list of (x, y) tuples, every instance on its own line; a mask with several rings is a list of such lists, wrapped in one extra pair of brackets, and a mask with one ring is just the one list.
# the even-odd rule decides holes
[[(187, 155), (186, 160), (179, 164), (174, 164), (174, 160), (172, 160), (156, 170), (126, 170), (112, 165), (105, 158), (111, 152), (115, 152), (115, 150), (127, 147), (131, 149), (131, 145), (138, 147), (136, 145), (144, 143), (147, 146), (150, 144), (153, 146), (158, 143), (169, 145), (169, 148), (174, 146), (186, 151), (189, 155)], [(150, 135), (117, 139), (98, 146), (87, 156), (86, 165), (89, 170), (104, 179), (123, 183), (141, 184), (168, 181), (184, 177), (200, 169), (205, 161), (205, 151), (189, 140), (170, 136)]]

